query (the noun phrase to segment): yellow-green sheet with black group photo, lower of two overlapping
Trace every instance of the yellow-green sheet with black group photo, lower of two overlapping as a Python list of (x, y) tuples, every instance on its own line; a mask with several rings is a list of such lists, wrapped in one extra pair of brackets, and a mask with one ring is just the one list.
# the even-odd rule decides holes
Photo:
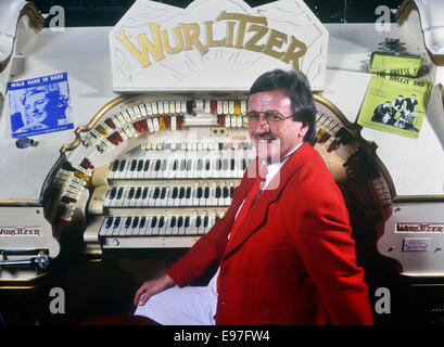
[(357, 124), (417, 139), (432, 85), (401, 76), (371, 77)]

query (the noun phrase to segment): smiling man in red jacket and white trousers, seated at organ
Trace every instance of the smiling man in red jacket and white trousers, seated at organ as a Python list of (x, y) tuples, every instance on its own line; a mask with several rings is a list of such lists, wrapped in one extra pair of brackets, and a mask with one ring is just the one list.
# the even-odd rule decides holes
[[(224, 218), (167, 273), (142, 284), (135, 314), (161, 324), (373, 323), (346, 207), (313, 147), (315, 114), (299, 70), (272, 70), (253, 83), (256, 159)], [(252, 175), (264, 167), (264, 177)], [(208, 271), (216, 274), (207, 286), (188, 285)]]

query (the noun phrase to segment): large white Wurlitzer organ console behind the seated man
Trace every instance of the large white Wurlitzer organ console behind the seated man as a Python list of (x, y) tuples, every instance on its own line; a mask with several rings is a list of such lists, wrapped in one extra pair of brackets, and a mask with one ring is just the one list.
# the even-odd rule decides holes
[[(390, 35), (423, 54), (435, 86), (417, 140), (354, 124), (370, 79), (363, 62), (389, 36), (373, 24), (322, 25), (303, 1), (137, 1), (114, 28), (36, 34), (28, 18), (38, 15), (17, 1), (9, 11), (23, 24), (1, 72), (1, 154), (17, 168), (16, 177), (0, 171), (2, 281), (45, 275), (73, 240), (76, 252), (97, 257), (190, 247), (224, 216), (254, 157), (246, 91), (272, 68), (300, 68), (310, 80), (315, 147), (343, 192), (370, 291), (384, 285), (388, 259), (414, 277), (441, 273), (442, 67), (427, 36), (411, 39), (429, 9), (406, 3), (413, 14)], [(18, 149), (7, 82), (62, 73), (75, 131), (38, 134)]]

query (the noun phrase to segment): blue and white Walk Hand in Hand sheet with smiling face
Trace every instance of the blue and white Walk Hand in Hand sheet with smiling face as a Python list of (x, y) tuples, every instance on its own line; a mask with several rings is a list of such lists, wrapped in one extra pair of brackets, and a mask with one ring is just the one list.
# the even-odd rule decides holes
[(67, 73), (8, 83), (12, 138), (73, 129)]

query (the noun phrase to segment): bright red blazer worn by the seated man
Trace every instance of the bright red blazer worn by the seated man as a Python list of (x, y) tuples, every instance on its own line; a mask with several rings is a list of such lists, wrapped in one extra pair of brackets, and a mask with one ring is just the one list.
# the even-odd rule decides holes
[(227, 244), (254, 181), (244, 174), (224, 218), (168, 274), (181, 287), (220, 265), (216, 324), (372, 324), (348, 214), (321, 156), (304, 143), (274, 180)]

